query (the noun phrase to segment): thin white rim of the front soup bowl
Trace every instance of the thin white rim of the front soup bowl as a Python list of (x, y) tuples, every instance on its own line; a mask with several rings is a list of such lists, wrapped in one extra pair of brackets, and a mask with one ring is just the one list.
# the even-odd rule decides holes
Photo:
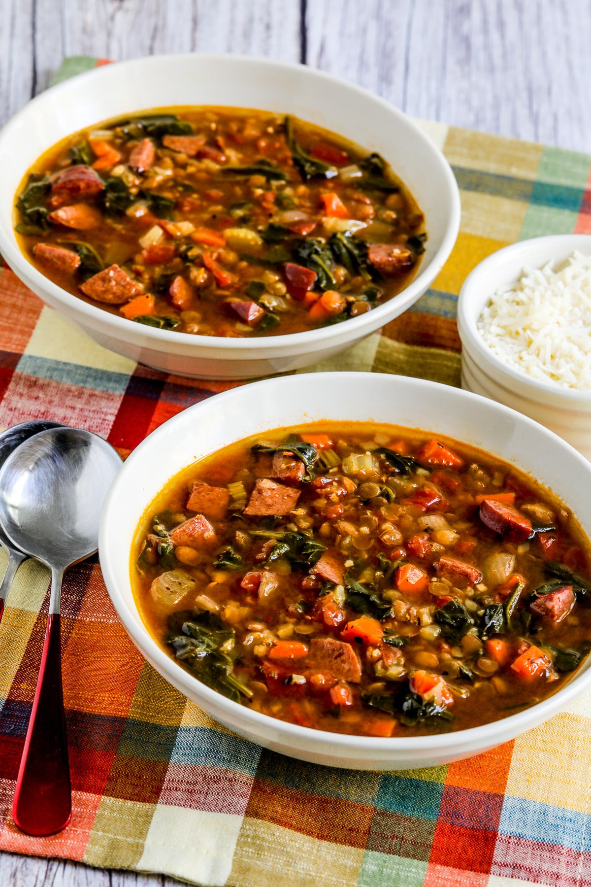
[[(305, 373), (304, 380), (306, 376), (317, 377), (318, 375), (319, 373)], [(332, 378), (334, 381), (338, 380), (339, 382), (346, 383), (347, 380), (353, 381), (360, 377), (364, 378), (368, 373), (330, 372), (320, 373), (320, 375), (322, 375), (327, 381)], [(425, 389), (435, 388), (441, 389), (442, 391), (448, 391), (450, 389), (450, 386), (444, 385), (440, 382), (408, 376), (393, 376), (390, 373), (371, 373), (371, 375), (390, 379), (393, 384), (399, 386), (400, 384), (404, 384), (411, 389), (415, 388), (417, 396), (420, 396), (421, 391)], [(264, 399), (265, 389), (271, 389), (277, 385), (281, 387), (285, 383), (287, 383), (287, 385), (293, 384), (292, 379), (294, 378), (297, 378), (300, 383), (303, 383), (300, 374), (297, 377), (279, 376), (261, 381), (253, 381), (249, 382), (247, 387), (250, 388), (256, 386)], [(170, 433), (171, 428), (175, 428), (176, 426), (178, 426), (179, 429), (182, 428), (183, 423), (186, 423), (188, 420), (191, 421), (190, 417), (212, 400), (215, 401), (218, 407), (229, 402), (228, 407), (231, 409), (230, 404), (232, 400), (239, 396), (240, 390), (244, 387), (245, 386), (239, 386), (238, 388), (229, 389), (228, 391), (214, 395), (212, 398), (207, 398), (206, 401), (200, 401), (198, 404), (193, 404), (191, 407), (177, 413), (171, 419), (159, 426), (159, 428), (152, 431), (152, 434), (144, 438), (144, 441), (139, 443), (136, 449), (129, 454), (128, 459), (126, 459), (123, 467), (121, 467), (121, 471), (116, 475), (107, 497), (105, 498), (105, 505), (103, 506), (99, 529), (99, 558), (102, 551), (109, 550), (107, 542), (108, 527), (111, 523), (111, 513), (115, 513), (117, 509), (117, 497), (119, 486), (121, 485), (121, 478), (130, 470), (129, 466), (133, 465), (136, 459), (138, 459), (137, 454), (142, 454), (144, 451), (149, 450), (154, 446), (158, 447), (159, 439), (167, 436)], [(451, 390), (455, 391), (455, 394), (460, 399), (466, 401), (467, 405), (470, 403), (482, 404), (484, 402), (487, 408), (497, 415), (507, 416), (513, 420), (517, 419), (518, 423), (535, 429), (541, 437), (549, 438), (555, 443), (558, 443), (562, 449), (567, 451), (571, 458), (579, 463), (581, 471), (587, 471), (587, 473), (591, 472), (591, 464), (579, 453), (579, 451), (575, 450), (570, 443), (566, 443), (563, 438), (557, 436), (553, 431), (541, 426), (538, 422), (529, 419), (529, 417), (516, 410), (512, 410), (504, 404), (499, 404), (486, 397), (473, 394), (470, 391), (455, 388), (452, 388)], [(195, 461), (198, 461), (198, 459)], [(178, 474), (178, 472), (176, 472), (176, 474)], [(276, 734), (282, 734), (282, 738), (284, 737), (286, 742), (291, 742), (291, 740), (296, 741), (296, 746), (293, 750), (306, 745), (308, 742), (315, 745), (316, 748), (324, 746), (327, 752), (330, 751), (330, 746), (332, 746), (333, 750), (335, 746), (338, 746), (340, 750), (348, 750), (350, 752), (357, 751), (358, 753), (365, 753), (376, 751), (390, 752), (392, 755), (395, 755), (396, 753), (404, 754), (416, 751), (432, 753), (443, 752), (444, 750), (449, 749), (451, 745), (454, 747), (470, 746), (470, 748), (476, 749), (473, 751), (473, 754), (478, 754), (481, 750), (505, 742), (506, 740), (503, 738), (503, 734), (512, 734), (515, 736), (524, 733), (532, 726), (535, 726), (535, 724), (539, 724), (552, 717), (557, 711), (563, 710), (564, 706), (573, 696), (579, 695), (591, 683), (591, 667), (588, 665), (585, 667), (585, 663), (588, 663), (589, 661), (589, 656), (587, 656), (587, 660), (583, 659), (583, 662), (579, 666), (579, 670), (573, 674), (572, 679), (564, 684), (564, 687), (561, 687), (556, 693), (548, 696), (540, 703), (536, 703), (514, 715), (509, 715), (507, 718), (500, 718), (498, 720), (489, 721), (486, 724), (468, 727), (464, 730), (455, 730), (449, 733), (430, 734), (427, 736), (410, 736), (406, 738), (398, 736), (377, 738), (374, 736), (362, 736), (356, 734), (330, 733), (329, 731), (317, 730), (314, 727), (299, 726), (279, 718), (272, 718), (270, 715), (262, 714), (259, 711), (250, 710), (246, 708), (245, 705), (234, 702), (212, 688), (207, 687), (206, 684), (203, 684), (197, 678), (194, 678), (189, 671), (185, 671), (182, 665), (175, 663), (174, 659), (159, 647), (159, 644), (152, 638), (150, 632), (148, 632), (140, 615), (139, 608), (135, 608), (136, 618), (133, 611), (128, 607), (127, 602), (120, 593), (120, 581), (113, 569), (110, 558), (100, 558), (100, 566), (109, 597), (111, 598), (113, 606), (128, 632), (129, 637), (136, 644), (136, 647), (140, 650), (141, 654), (144, 655), (144, 658), (148, 659), (152, 664), (156, 663), (159, 670), (161, 670), (160, 673), (165, 676), (165, 679), (167, 679), (168, 682), (173, 683), (177, 688), (179, 688), (179, 685), (182, 687), (184, 684), (191, 689), (191, 692), (196, 698), (199, 698), (199, 696), (205, 697), (207, 703), (212, 703), (214, 709), (217, 708), (218, 710), (222, 710), (223, 715), (228, 715), (230, 721), (233, 719), (232, 714), (234, 713), (243, 723), (249, 725), (248, 727), (245, 727), (245, 730), (250, 728), (253, 733), (263, 734), (265, 728), (273, 727)], [(129, 561), (126, 561), (125, 581), (129, 582)], [(135, 603), (135, 598), (133, 600)], [(187, 695), (183, 689), (180, 692), (182, 692), (183, 695)], [(535, 714), (533, 714), (534, 712)], [(213, 717), (215, 718), (216, 716), (214, 715)], [(532, 721), (534, 721), (534, 723), (532, 723)], [(258, 727), (261, 727), (261, 730), (257, 730)]]

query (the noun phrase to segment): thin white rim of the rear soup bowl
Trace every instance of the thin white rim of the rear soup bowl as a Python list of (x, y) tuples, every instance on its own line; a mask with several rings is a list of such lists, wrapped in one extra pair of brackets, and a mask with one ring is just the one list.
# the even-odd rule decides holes
[[(377, 96), (375, 93), (370, 90), (366, 90), (362, 86), (358, 86), (356, 83), (348, 82), (336, 75), (329, 74), (325, 71), (318, 70), (313, 67), (308, 67), (307, 65), (299, 64), (296, 62), (281, 62), (276, 61), (275, 59), (261, 59), (256, 56), (246, 56), (246, 55), (234, 55), (231, 53), (206, 53), (206, 52), (179, 52), (179, 53), (161, 53), (152, 56), (142, 56), (138, 59), (127, 59), (121, 62), (115, 62), (117, 66), (117, 70), (121, 70), (122, 75), (125, 75), (126, 70), (132, 69), (134, 67), (144, 67), (146, 65), (159, 65), (162, 63), (166, 63), (167, 60), (175, 59), (178, 61), (179, 59), (184, 59), (186, 61), (192, 61), (194, 59), (198, 59), (199, 63), (207, 63), (211, 62), (229, 62), (229, 63), (238, 63), (245, 64), (247, 67), (255, 66), (255, 65), (264, 65), (269, 68), (277, 68), (279, 70), (291, 71), (295, 73), (296, 71), (300, 75), (304, 75), (309, 77), (312, 81), (321, 80), (325, 82), (330, 82), (332, 84), (338, 85), (339, 88), (345, 88), (348, 91), (352, 91), (360, 95), (362, 98), (371, 101), (382, 110), (385, 111), (386, 114), (390, 114), (396, 120), (397, 125), (401, 125), (402, 127), (406, 127), (407, 130), (412, 134), (412, 136), (423, 144), (424, 148), (431, 155), (431, 162), (438, 169), (440, 184), (439, 187), (442, 193), (447, 192), (447, 200), (449, 202), (449, 212), (447, 218), (447, 226), (445, 228), (445, 232), (441, 239), (441, 243), (439, 245), (439, 249), (432, 256), (432, 259), (429, 263), (429, 266), (425, 269), (421, 268), (419, 265), (418, 273), (416, 276), (410, 280), (408, 283), (408, 287), (405, 287), (400, 291), (399, 294), (393, 296), (387, 302), (380, 305), (377, 309), (372, 311), (368, 311), (365, 314), (359, 315), (356, 318), (349, 318), (344, 321), (344, 324), (348, 324), (351, 326), (347, 327), (347, 330), (351, 330), (352, 334), (347, 335), (348, 338), (354, 338), (357, 334), (357, 338), (360, 338), (360, 334), (362, 334), (362, 329), (365, 326), (376, 326), (376, 321), (384, 318), (384, 322), (387, 322), (388, 314), (390, 311), (388, 308), (392, 305), (395, 299), (398, 299), (398, 305), (403, 301), (403, 307), (399, 313), (407, 310), (407, 308), (413, 303), (413, 298), (416, 296), (416, 291), (420, 290), (421, 287), (424, 286), (424, 282), (427, 281), (427, 287), (432, 283), (432, 280), (439, 273), (440, 268), (443, 266), (443, 263), (447, 261), (448, 256), (450, 255), (454, 245), (455, 240), (457, 238), (457, 234), (460, 229), (460, 221), (461, 221), (461, 202), (460, 202), (460, 192), (458, 185), (455, 181), (455, 176), (452, 172), (452, 169), (447, 162), (444, 154), (439, 150), (439, 148), (434, 145), (432, 139), (429, 138), (423, 130), (418, 126), (416, 122), (414, 122), (408, 114), (405, 114), (403, 111), (400, 111), (399, 108), (391, 105), (389, 102), (385, 100), (385, 98), (381, 98)], [(43, 90), (39, 95), (32, 98), (27, 102), (27, 105), (23, 106), (17, 114), (14, 114), (12, 119), (7, 122), (2, 130), (0, 130), (0, 145), (2, 145), (5, 141), (10, 140), (12, 135), (12, 130), (14, 130), (17, 126), (19, 126), (20, 121), (30, 114), (35, 113), (35, 108), (40, 104), (43, 104), (44, 101), (48, 100), (48, 96), (51, 100), (52, 97), (59, 95), (61, 92), (67, 93), (68, 88), (72, 88), (73, 82), (79, 82), (79, 78), (85, 78), (85, 80), (93, 82), (100, 82), (101, 78), (105, 77), (105, 71), (111, 66), (100, 66), (95, 67), (89, 71), (85, 71), (80, 75), (75, 75), (72, 78), (68, 78), (65, 81), (57, 83), (55, 86), (51, 86), (47, 90)], [(130, 114), (140, 114), (142, 110), (147, 109), (138, 109), (136, 111), (129, 112)], [(23, 172), (24, 175), (24, 172)], [(14, 195), (12, 195), (12, 203), (14, 201)], [(14, 232), (12, 230), (12, 236), (14, 236)], [(10, 267), (17, 273), (18, 270), (25, 271), (22, 273), (25, 276), (29, 276), (35, 283), (35, 285), (41, 290), (48, 289), (58, 302), (66, 302), (66, 305), (74, 308), (76, 312), (82, 314), (84, 322), (87, 322), (89, 325), (93, 324), (93, 321), (99, 321), (101, 324), (105, 324), (105, 326), (109, 326), (112, 329), (113, 335), (118, 335), (123, 341), (128, 339), (128, 335), (126, 335), (126, 330), (128, 332), (133, 332), (133, 327), (130, 328), (131, 321), (126, 318), (120, 318), (117, 315), (111, 314), (108, 311), (102, 310), (95, 305), (91, 305), (89, 302), (84, 302), (84, 300), (78, 298), (77, 296), (68, 293), (62, 287), (58, 287), (57, 284), (53, 283), (53, 281), (35, 268), (35, 265), (27, 259), (27, 256), (20, 250), (18, 246), (18, 241), (16, 239), (12, 240), (10, 236), (4, 236), (3, 227), (0, 225), (0, 252), (4, 255), (6, 261), (10, 265)], [(18, 273), (17, 273), (17, 276)], [(416, 301), (416, 298), (415, 298)], [(376, 313), (377, 312), (377, 313)], [(82, 320), (82, 318), (81, 318)], [(341, 326), (341, 325), (338, 325)], [(380, 325), (378, 325), (380, 326)], [(199, 350), (207, 351), (212, 349), (220, 349), (223, 348), (228, 349), (230, 352), (236, 352), (235, 357), (241, 357), (241, 352), (253, 349), (260, 349), (262, 352), (272, 350), (274, 347), (282, 347), (282, 348), (293, 348), (297, 347), (297, 345), (301, 343), (307, 343), (310, 345), (315, 345), (316, 343), (322, 344), (324, 341), (330, 340), (330, 338), (335, 333), (334, 326), (323, 326), (316, 327), (313, 330), (304, 330), (301, 333), (291, 333), (286, 335), (277, 335), (277, 336), (268, 336), (268, 337), (257, 337), (255, 339), (234, 339), (234, 338), (226, 338), (223, 336), (204, 336), (204, 335), (195, 335), (189, 333), (175, 333), (173, 330), (160, 330), (157, 328), (153, 328), (151, 326), (143, 326), (142, 334), (144, 340), (147, 342), (147, 347), (156, 347), (158, 343), (162, 343), (162, 345), (166, 345), (167, 343), (176, 342), (178, 346), (193, 346)], [(192, 348), (191, 348), (192, 350)], [(206, 355), (204, 355), (205, 357)], [(264, 357), (264, 354), (261, 354), (261, 357)]]

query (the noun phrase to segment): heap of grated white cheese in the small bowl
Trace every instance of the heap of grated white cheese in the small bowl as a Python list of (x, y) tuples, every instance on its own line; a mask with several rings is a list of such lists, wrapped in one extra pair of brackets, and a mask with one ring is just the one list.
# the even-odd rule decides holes
[(505, 364), (562, 388), (591, 389), (591, 255), (525, 269), (486, 302), (478, 332)]

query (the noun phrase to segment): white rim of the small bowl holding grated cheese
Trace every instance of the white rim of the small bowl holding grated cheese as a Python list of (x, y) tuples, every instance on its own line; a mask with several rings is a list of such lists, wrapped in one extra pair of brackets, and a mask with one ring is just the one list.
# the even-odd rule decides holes
[[(470, 274), (464, 280), (462, 289), (460, 290), (457, 304), (458, 333), (462, 340), (463, 348), (470, 353), (472, 358), (474, 358), (475, 355), (484, 357), (485, 361), (494, 368), (496, 373), (505, 373), (509, 376), (509, 379), (520, 382), (522, 386), (531, 389), (532, 393), (536, 392), (540, 398), (543, 398), (544, 395), (550, 394), (555, 397), (564, 397), (565, 402), (575, 401), (579, 402), (579, 404), (591, 405), (591, 389), (588, 391), (580, 391), (578, 389), (563, 388), (554, 382), (545, 382), (539, 379), (534, 379), (522, 370), (516, 370), (515, 367), (504, 363), (502, 359), (494, 354), (494, 351), (486, 345), (486, 342), (478, 333), (478, 318), (475, 311), (472, 310), (481, 277), (486, 274), (487, 271), (490, 271), (491, 268), (494, 268), (495, 265), (502, 265), (504, 262), (510, 262), (520, 253), (523, 253), (523, 255), (526, 256), (533, 249), (543, 247), (545, 244), (548, 245), (549, 253), (551, 252), (552, 247), (559, 245), (566, 246), (569, 241), (574, 244), (572, 250), (579, 248), (576, 246), (577, 243), (580, 243), (581, 246), (584, 243), (587, 243), (591, 255), (591, 234), (575, 233), (545, 234), (541, 237), (517, 240), (517, 243), (511, 243), (508, 247), (502, 247), (502, 249), (497, 250), (491, 255), (487, 255), (486, 259), (483, 259), (482, 262), (479, 262), (478, 265), (470, 271)], [(552, 255), (549, 255), (546, 263), (548, 262), (556, 262), (556, 259), (553, 259)], [(526, 264), (527, 263), (524, 263), (524, 267)], [(543, 267), (543, 265), (538, 264), (536, 267), (540, 268)], [(516, 278), (516, 280), (517, 279), (518, 278)], [(493, 295), (493, 293), (487, 294), (486, 300), (491, 295)], [(482, 364), (478, 365), (480, 366), (480, 369), (486, 372), (486, 369)]]

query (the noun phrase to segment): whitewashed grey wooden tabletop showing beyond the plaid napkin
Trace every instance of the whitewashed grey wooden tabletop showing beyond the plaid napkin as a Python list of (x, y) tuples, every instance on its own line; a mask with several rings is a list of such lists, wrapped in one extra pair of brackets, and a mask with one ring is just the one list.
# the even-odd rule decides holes
[[(589, 0), (0, 0), (0, 124), (64, 56), (217, 51), (305, 62), (404, 111), (591, 152)], [(1, 887), (160, 875), (0, 853)]]

